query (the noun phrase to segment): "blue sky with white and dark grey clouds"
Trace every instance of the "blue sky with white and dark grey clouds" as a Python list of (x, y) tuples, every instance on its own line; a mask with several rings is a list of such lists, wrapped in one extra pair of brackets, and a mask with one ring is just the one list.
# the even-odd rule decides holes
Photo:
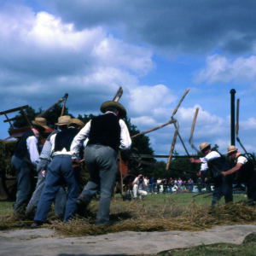
[[(128, 118), (148, 131), (171, 119), (189, 89), (173, 116), (189, 154), (196, 108), (195, 146), (225, 154), (235, 89), (239, 138), (256, 152), (255, 11), (247, 0), (0, 0), (0, 112), (46, 109), (68, 93), (70, 113), (99, 114), (122, 86)], [(174, 131), (148, 133), (154, 154), (170, 153)], [(178, 138), (175, 150), (185, 154)]]

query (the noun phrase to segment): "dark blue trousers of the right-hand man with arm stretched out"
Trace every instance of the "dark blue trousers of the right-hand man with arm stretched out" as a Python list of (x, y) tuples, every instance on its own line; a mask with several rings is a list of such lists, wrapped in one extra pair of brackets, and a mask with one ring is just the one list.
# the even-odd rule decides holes
[(221, 200), (222, 195), (224, 195), (225, 203), (233, 201), (232, 179), (230, 177), (214, 177), (213, 183), (212, 207)]

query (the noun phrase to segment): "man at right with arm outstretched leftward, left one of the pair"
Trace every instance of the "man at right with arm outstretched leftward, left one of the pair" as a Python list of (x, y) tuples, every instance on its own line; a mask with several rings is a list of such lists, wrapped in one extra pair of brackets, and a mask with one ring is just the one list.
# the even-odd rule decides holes
[[(233, 201), (232, 179), (221, 175), (221, 172), (229, 170), (229, 165), (226, 163), (225, 157), (222, 154), (219, 154), (218, 151), (212, 150), (211, 144), (201, 143), (200, 150), (205, 156), (199, 160), (190, 158), (190, 162), (204, 164), (204, 169), (201, 169), (201, 172), (207, 172), (208, 168), (211, 171), (214, 183), (212, 207), (220, 201), (222, 195), (224, 195), (226, 203)], [(199, 173), (200, 176), (201, 172)]]

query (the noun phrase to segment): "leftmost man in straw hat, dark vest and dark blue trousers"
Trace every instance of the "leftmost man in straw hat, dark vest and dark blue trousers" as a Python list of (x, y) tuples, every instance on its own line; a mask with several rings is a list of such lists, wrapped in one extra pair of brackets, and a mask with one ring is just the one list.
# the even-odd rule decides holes
[(16, 144), (15, 154), (12, 157), (12, 166), (15, 167), (17, 176), (17, 199), (15, 212), (25, 210), (26, 204), (32, 194), (34, 182), (31, 168), (37, 168), (39, 162), (38, 140), (45, 129), (49, 129), (44, 118), (36, 118), (32, 121), (32, 130), (27, 131)]

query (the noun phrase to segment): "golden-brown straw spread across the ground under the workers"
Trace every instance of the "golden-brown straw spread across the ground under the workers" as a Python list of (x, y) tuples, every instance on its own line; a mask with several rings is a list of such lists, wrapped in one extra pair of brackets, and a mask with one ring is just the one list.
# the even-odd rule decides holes
[[(95, 236), (121, 231), (198, 231), (219, 225), (256, 224), (256, 208), (246, 204), (229, 204), (219, 207), (197, 206), (193, 201), (186, 206), (147, 205), (147, 201), (114, 200), (108, 225), (95, 226), (98, 202), (91, 202), (87, 218), (77, 217), (67, 224), (56, 220), (51, 212), (44, 228), (56, 230), (64, 236)], [(13, 219), (11, 219), (13, 218)], [(29, 228), (32, 220), (0, 218), (0, 229)]]

